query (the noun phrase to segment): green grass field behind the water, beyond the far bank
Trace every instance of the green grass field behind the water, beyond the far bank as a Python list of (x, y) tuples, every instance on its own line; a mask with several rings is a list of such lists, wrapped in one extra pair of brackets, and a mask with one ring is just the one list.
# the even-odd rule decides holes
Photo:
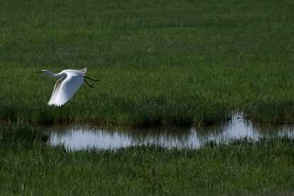
[[(203, 125), (244, 111), (294, 123), (294, 1), (0, 1), (0, 120)], [(102, 80), (61, 108), (56, 80)]]

